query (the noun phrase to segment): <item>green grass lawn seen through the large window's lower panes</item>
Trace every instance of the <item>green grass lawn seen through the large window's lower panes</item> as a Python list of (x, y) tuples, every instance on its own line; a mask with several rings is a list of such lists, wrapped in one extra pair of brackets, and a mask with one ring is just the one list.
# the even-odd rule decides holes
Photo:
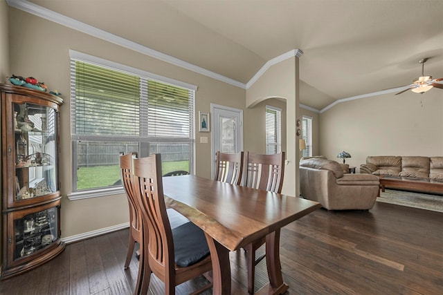
[[(189, 161), (163, 162), (162, 173), (184, 170), (189, 171)], [(113, 166), (80, 167), (77, 171), (77, 189), (109, 187), (120, 180), (120, 168)]]

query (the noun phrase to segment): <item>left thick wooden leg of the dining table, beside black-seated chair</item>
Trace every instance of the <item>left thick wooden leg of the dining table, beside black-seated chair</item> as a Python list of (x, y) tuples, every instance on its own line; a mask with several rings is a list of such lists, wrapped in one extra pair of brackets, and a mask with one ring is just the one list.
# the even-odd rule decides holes
[(229, 250), (205, 233), (213, 262), (213, 294), (230, 294)]

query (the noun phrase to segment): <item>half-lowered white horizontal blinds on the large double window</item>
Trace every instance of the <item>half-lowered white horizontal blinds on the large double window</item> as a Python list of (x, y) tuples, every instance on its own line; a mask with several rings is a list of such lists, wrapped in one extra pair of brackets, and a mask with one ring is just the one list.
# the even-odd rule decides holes
[(71, 59), (73, 140), (192, 140), (195, 91)]

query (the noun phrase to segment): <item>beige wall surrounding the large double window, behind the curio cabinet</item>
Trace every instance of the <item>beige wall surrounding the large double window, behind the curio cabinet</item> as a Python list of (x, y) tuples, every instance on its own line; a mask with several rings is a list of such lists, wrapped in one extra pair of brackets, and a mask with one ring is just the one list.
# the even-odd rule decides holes
[[(62, 237), (70, 237), (89, 231), (120, 225), (128, 222), (127, 200), (124, 195), (69, 201), (71, 192), (71, 142), (69, 108), (69, 49), (94, 55), (120, 64), (141, 68), (157, 75), (163, 75), (198, 86), (196, 112), (210, 111), (210, 103), (244, 110), (246, 91), (204, 75), (173, 66), (172, 64), (147, 57), (132, 50), (110, 44), (51, 21), (35, 17), (21, 10), (10, 8), (10, 28), (21, 34), (10, 38), (10, 68), (21, 76), (33, 76), (45, 82), (49, 90), (62, 93), (64, 105), (61, 108), (61, 161), (60, 180), (62, 183)], [(28, 30), (33, 28), (33, 30)], [(35, 34), (44, 32), (44, 36)], [(244, 121), (253, 118), (244, 116)], [(247, 130), (244, 130), (247, 133)], [(263, 131), (264, 132), (264, 125)], [(198, 133), (207, 136), (207, 133)], [(197, 175), (210, 178), (210, 144), (197, 140)]]

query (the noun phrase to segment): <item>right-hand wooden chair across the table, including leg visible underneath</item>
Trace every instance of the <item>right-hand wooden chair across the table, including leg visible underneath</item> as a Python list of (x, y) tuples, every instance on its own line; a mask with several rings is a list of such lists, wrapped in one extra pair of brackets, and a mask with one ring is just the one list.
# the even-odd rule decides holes
[[(261, 155), (246, 151), (244, 155), (246, 180), (245, 187), (281, 193), (284, 178), (284, 152), (274, 155)], [(255, 258), (255, 251), (260, 248), (266, 237), (256, 240), (244, 247), (248, 264), (248, 292), (254, 292), (255, 265), (260, 263), (265, 254)]]

